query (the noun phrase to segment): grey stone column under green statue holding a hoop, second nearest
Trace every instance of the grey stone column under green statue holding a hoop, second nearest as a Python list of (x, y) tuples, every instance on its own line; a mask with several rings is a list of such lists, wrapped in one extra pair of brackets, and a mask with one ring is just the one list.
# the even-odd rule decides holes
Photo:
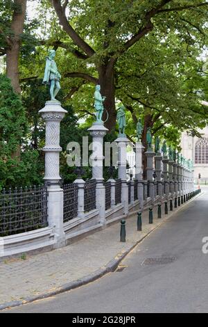
[(106, 224), (105, 220), (105, 185), (103, 184), (103, 138), (107, 128), (103, 122), (94, 122), (87, 129), (92, 136), (92, 178), (96, 180), (96, 208), (99, 209), (100, 222)]

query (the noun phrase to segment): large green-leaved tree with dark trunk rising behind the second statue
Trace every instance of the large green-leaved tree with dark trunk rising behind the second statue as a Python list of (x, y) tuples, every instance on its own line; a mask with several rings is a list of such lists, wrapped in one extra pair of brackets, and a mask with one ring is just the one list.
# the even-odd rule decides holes
[[(56, 45), (64, 47), (80, 61), (96, 67), (96, 74), (83, 70), (69, 72), (68, 77), (100, 83), (106, 96), (105, 108), (113, 129), (116, 120), (115, 67), (123, 54), (146, 40), (152, 31), (161, 33), (161, 40), (170, 31), (179, 33), (187, 43), (193, 35), (204, 38), (208, 3), (203, 0), (51, 0), (59, 22), (71, 42), (59, 39)], [(65, 40), (64, 40), (65, 41)]]

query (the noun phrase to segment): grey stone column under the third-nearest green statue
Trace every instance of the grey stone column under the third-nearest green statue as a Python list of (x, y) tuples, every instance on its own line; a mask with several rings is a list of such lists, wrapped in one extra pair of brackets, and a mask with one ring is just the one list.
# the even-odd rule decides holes
[(126, 147), (128, 138), (119, 136), (115, 142), (118, 144), (119, 153), (119, 179), (121, 179), (121, 202), (123, 204), (123, 213), (128, 214), (128, 184), (126, 182)]

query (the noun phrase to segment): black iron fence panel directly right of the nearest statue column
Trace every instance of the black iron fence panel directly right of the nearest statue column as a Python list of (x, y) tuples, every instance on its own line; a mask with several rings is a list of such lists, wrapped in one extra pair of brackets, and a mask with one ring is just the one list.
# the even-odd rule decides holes
[(64, 223), (77, 216), (78, 186), (74, 183), (65, 184), (64, 190)]

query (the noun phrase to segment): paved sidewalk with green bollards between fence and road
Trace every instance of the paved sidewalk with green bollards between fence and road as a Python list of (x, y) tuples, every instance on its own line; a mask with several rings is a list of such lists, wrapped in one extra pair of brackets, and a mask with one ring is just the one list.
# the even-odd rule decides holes
[(161, 219), (157, 218), (157, 208), (155, 208), (151, 225), (148, 223), (148, 212), (144, 212), (142, 232), (137, 232), (137, 216), (128, 218), (125, 243), (120, 242), (118, 221), (64, 248), (0, 262), (0, 310), (53, 296), (114, 271), (123, 257), (141, 239), (175, 212), (184, 210), (191, 201), (177, 209), (173, 208), (173, 212), (169, 212), (166, 216), (162, 206)]

